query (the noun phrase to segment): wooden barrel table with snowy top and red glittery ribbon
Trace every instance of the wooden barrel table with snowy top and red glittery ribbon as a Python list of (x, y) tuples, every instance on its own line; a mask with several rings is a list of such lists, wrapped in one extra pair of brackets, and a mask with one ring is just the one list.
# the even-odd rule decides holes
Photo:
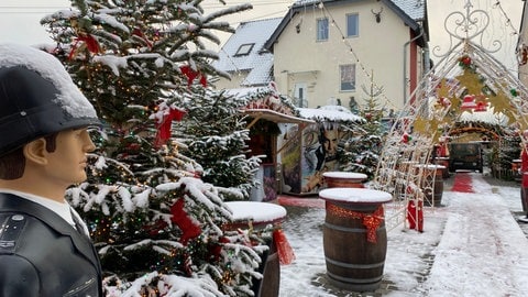
[(382, 204), (388, 202), (391, 195), (364, 188), (330, 188), (319, 196), (327, 209), (322, 234), (329, 283), (353, 292), (376, 290), (387, 252)]

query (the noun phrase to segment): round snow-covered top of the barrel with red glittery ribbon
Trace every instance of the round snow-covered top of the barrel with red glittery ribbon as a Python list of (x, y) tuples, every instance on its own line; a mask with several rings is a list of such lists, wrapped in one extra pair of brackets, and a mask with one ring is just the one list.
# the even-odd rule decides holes
[(329, 188), (319, 191), (324, 200), (355, 204), (386, 204), (393, 200), (389, 193), (366, 188)]

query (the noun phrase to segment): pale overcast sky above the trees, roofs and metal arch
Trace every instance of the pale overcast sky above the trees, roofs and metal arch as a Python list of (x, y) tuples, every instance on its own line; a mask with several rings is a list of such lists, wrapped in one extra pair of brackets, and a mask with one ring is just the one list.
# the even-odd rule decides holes
[[(257, 19), (284, 16), (288, 7), (295, 0), (226, 0), (228, 6), (251, 2), (254, 7), (251, 11), (237, 13), (228, 19), (234, 28), (240, 22)], [(417, 0), (408, 0), (417, 1)], [(516, 63), (515, 47), (519, 31), (519, 22), (522, 12), (522, 0), (427, 0), (430, 25), (430, 47), (442, 46), (448, 50), (446, 43), (448, 34), (443, 29), (446, 16), (453, 11), (464, 11), (464, 4), (470, 1), (473, 9), (482, 9), (491, 16), (488, 36), (501, 38), (503, 48), (497, 57), (508, 67), (513, 68)], [(45, 3), (43, 3), (45, 2)], [(501, 6), (496, 6), (496, 3)], [(69, 0), (2, 0), (0, 4), (0, 42), (15, 42), (22, 44), (50, 43), (40, 19), (56, 10), (69, 8)], [(206, 10), (220, 9), (218, 0), (206, 0)], [(504, 9), (504, 13), (502, 12)], [(507, 20), (509, 19), (509, 23)], [(227, 40), (228, 35), (219, 35)], [(216, 48), (213, 48), (216, 50)], [(432, 57), (435, 59), (435, 57)]]

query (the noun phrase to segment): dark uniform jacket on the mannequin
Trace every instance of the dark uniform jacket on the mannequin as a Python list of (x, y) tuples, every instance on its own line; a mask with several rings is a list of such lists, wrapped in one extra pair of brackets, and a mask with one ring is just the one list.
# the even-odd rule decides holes
[(0, 194), (0, 297), (102, 297), (101, 280), (87, 235), (44, 206)]

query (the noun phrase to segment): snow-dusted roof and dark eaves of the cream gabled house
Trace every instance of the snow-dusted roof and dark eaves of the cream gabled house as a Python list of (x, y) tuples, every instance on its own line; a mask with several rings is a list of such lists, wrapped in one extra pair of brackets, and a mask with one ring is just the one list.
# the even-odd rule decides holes
[[(305, 12), (307, 6), (318, 6), (319, 3), (323, 3), (326, 7), (330, 6), (353, 6), (359, 0), (297, 0), (292, 8), (289, 9), (286, 16), (283, 19), (280, 24), (278, 25), (277, 30), (273, 32), (272, 37), (265, 43), (264, 47), (273, 51), (273, 44), (278, 38), (283, 30), (293, 19), (292, 16), (296, 13)], [(421, 28), (428, 31), (427, 22), (425, 21), (427, 18), (426, 12), (426, 1), (425, 0), (378, 0), (385, 6), (387, 6), (391, 10), (396, 13), (405, 23), (408, 25), (413, 31), (415, 31), (416, 35), (420, 34)], [(420, 25), (419, 22), (424, 24)], [(429, 34), (425, 34), (417, 42), (422, 46), (427, 42), (427, 37)]]

